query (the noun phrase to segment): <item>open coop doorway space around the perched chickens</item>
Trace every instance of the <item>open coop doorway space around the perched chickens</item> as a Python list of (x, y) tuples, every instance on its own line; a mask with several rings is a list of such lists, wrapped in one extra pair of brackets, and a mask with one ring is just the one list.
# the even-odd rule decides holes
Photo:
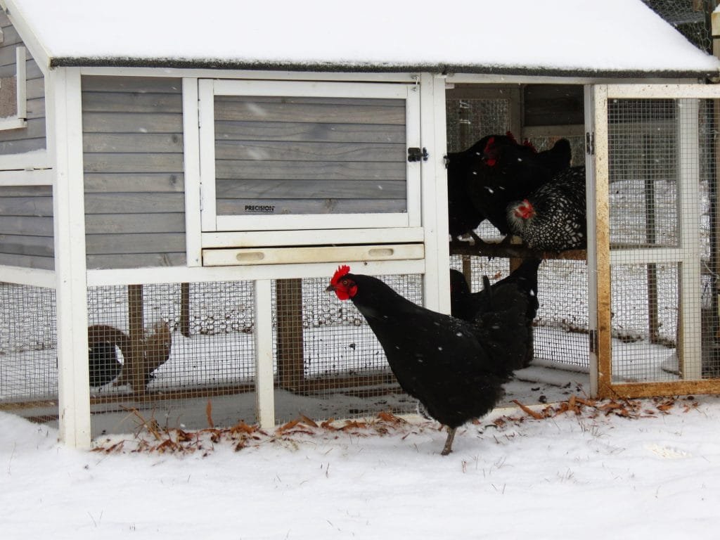
[[(529, 79), (528, 79), (529, 81)], [(511, 134), (538, 152), (567, 139), (571, 166), (587, 164), (585, 87), (582, 84), (449, 84), (446, 89), (449, 153), (471, 148), (488, 135)], [(485, 220), (472, 238), (453, 238), (451, 268), (462, 271), (472, 291), (505, 278), (524, 256), (533, 253), (519, 243), (501, 246), (504, 235)], [(516, 241), (516, 240), (513, 240)], [(534, 358), (507, 385), (513, 400), (544, 402), (572, 394), (592, 395), (587, 253), (568, 250), (542, 253), (538, 270), (539, 311), (534, 320)]]

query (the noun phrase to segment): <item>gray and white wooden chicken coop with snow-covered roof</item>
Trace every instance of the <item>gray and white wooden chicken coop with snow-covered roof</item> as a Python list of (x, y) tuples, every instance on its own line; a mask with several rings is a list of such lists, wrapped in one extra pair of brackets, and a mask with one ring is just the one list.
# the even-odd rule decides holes
[(517, 379), (720, 391), (720, 61), (642, 1), (451, 0), (432, 28), (403, 2), (145, 4), (0, 0), (0, 411), (81, 448), (414, 413), (325, 288), (348, 264), (449, 312), (449, 269), (477, 290), (536, 256), (487, 222), (448, 241), (446, 156), (506, 132), (586, 171), (587, 248), (541, 253)]

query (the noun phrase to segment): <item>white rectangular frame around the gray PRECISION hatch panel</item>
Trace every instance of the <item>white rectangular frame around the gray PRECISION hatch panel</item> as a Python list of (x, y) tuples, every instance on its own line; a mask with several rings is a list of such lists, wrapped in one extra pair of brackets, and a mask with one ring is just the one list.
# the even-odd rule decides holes
[[(314, 81), (200, 79), (199, 152), (201, 224), (203, 233), (375, 229), (376, 241), (387, 241), (387, 228), (419, 228), (420, 163), (407, 163), (407, 212), (363, 214), (298, 214), (222, 216), (215, 211), (215, 96), (331, 96), (405, 99), (406, 145), (420, 148), (420, 92), (416, 84)], [(307, 237), (306, 237), (307, 238)], [(338, 238), (339, 239), (339, 238)], [(392, 240), (391, 240), (392, 241)]]

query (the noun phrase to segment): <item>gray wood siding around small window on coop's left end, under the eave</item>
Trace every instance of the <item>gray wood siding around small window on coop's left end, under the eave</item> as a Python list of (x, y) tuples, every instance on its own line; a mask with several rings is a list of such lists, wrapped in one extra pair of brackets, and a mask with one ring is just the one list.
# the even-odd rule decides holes
[[(0, 43), (0, 77), (14, 76), (15, 49), (24, 45), (7, 16), (0, 12), (4, 41)], [(27, 52), (27, 51), (26, 51)], [(25, 153), (47, 148), (45, 137), (45, 78), (35, 60), (27, 52), (27, 127), (0, 130), (0, 155)]]

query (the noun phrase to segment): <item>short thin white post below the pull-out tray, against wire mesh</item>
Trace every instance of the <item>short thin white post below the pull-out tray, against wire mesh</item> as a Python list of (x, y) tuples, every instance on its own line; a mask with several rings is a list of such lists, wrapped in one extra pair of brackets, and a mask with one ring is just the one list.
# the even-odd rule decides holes
[(255, 395), (261, 428), (275, 426), (272, 367), (272, 292), (269, 279), (255, 282)]

